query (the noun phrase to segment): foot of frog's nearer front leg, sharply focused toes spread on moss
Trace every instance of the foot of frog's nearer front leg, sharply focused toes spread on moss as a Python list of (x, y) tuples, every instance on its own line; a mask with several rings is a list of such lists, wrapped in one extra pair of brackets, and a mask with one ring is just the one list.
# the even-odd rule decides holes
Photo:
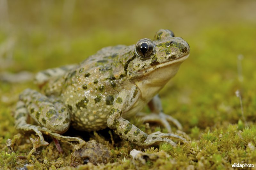
[(187, 142), (187, 140), (181, 136), (174, 135), (171, 133), (161, 133), (160, 131), (157, 131), (157, 132), (152, 133), (147, 136), (147, 139), (145, 140), (145, 144), (153, 145), (153, 144), (159, 143), (159, 142), (166, 142), (166, 143), (170, 143), (173, 147), (176, 147), (176, 143), (174, 143), (172, 140), (168, 139), (167, 137), (178, 139), (183, 143)]

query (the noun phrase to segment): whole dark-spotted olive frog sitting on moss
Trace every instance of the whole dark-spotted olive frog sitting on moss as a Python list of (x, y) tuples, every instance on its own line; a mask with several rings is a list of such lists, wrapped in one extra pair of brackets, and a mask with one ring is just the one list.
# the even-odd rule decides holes
[[(172, 133), (170, 122), (178, 120), (163, 112), (158, 92), (178, 72), (189, 56), (190, 47), (169, 29), (160, 29), (154, 39), (143, 38), (133, 45), (105, 47), (80, 64), (47, 69), (37, 73), (41, 91), (25, 89), (15, 110), (15, 127), (34, 131), (39, 145), (45, 135), (61, 141), (84, 143), (79, 137), (65, 136), (70, 126), (80, 131), (112, 129), (122, 139), (140, 147), (187, 142)], [(140, 112), (148, 104), (151, 113)], [(162, 124), (168, 133), (147, 134), (129, 119)], [(31, 117), (36, 123), (30, 124)], [(36, 140), (37, 141), (37, 140)]]

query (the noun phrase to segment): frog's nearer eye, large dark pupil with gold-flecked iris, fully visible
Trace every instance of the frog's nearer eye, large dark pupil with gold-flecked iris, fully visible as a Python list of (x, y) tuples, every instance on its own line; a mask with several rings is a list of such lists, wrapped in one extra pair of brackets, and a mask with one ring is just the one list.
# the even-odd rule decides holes
[(155, 44), (149, 39), (140, 40), (135, 47), (135, 54), (141, 58), (148, 58), (153, 54)]

